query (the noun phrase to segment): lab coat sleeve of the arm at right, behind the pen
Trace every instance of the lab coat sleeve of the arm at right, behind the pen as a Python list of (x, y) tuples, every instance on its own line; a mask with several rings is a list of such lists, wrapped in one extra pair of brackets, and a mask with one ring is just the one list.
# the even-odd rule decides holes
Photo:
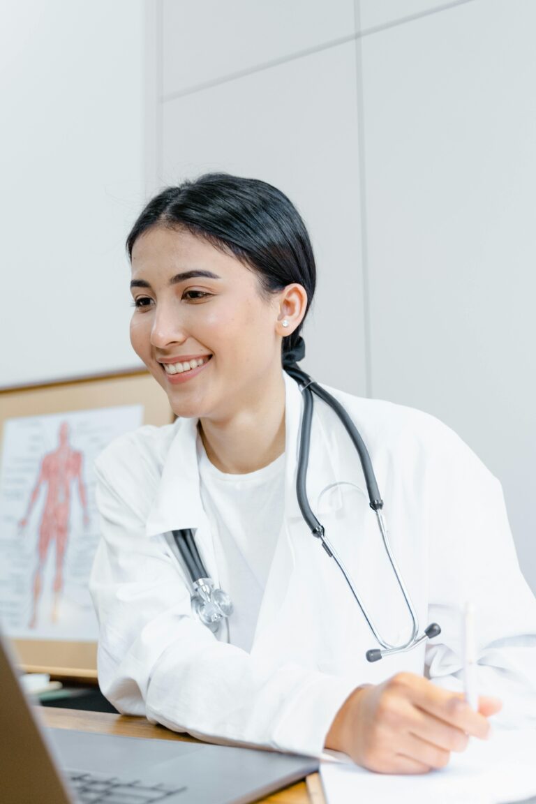
[(476, 609), (477, 692), (503, 701), (494, 718), (536, 726), (536, 601), (519, 568), (501, 484), (454, 433), (429, 472), (430, 678), (463, 690), (461, 609)]

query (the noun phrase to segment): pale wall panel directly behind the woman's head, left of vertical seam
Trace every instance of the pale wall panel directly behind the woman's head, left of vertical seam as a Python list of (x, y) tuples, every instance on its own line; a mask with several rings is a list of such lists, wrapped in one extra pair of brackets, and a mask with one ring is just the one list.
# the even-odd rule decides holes
[(243, 76), (164, 105), (169, 183), (207, 170), (254, 176), (300, 209), (319, 281), (304, 366), (365, 392), (354, 43)]

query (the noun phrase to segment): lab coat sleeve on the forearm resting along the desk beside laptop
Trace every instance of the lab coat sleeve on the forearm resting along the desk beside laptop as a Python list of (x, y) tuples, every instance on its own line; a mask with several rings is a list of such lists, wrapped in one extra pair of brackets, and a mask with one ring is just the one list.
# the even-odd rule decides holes
[(102, 536), (90, 589), (100, 623), (98, 673), (120, 712), (212, 742), (317, 756), (357, 686), (283, 663), (267, 672), (192, 616), (164, 535), (145, 535), (144, 489), (114, 488), (96, 466)]

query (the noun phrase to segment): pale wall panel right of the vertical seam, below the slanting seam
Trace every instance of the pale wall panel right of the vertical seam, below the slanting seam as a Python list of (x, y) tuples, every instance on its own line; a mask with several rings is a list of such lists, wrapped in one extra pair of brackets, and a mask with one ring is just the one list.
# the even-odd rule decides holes
[(372, 394), (501, 479), (534, 589), (535, 27), (489, 0), (362, 39)]

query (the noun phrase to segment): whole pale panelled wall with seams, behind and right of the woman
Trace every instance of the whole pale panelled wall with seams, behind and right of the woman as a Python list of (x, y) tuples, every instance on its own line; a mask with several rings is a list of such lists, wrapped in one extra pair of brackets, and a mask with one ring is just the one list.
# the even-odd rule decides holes
[(153, 187), (221, 169), (297, 203), (305, 367), (460, 433), (534, 589), (535, 25), (531, 0), (162, 0), (151, 34)]

